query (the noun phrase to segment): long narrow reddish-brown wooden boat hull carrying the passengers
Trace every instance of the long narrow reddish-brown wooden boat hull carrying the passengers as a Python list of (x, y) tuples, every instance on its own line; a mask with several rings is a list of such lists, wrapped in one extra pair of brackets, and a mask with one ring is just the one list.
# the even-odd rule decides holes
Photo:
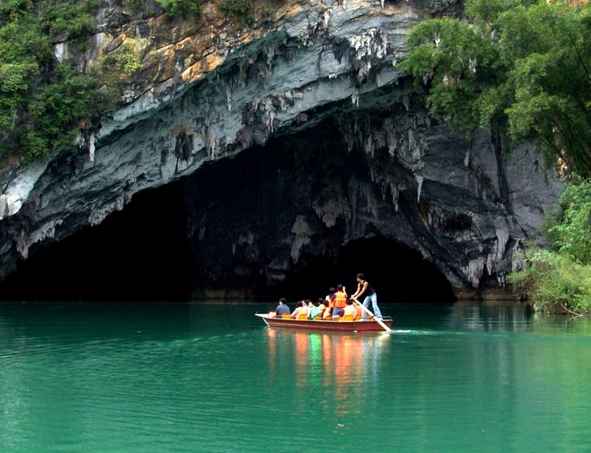
[[(333, 321), (333, 320), (294, 320), (277, 318), (266, 313), (256, 313), (271, 328), (301, 328), (304, 330), (320, 330), (328, 332), (377, 332), (384, 328), (376, 320)], [(392, 318), (385, 317), (382, 322), (392, 327)]]

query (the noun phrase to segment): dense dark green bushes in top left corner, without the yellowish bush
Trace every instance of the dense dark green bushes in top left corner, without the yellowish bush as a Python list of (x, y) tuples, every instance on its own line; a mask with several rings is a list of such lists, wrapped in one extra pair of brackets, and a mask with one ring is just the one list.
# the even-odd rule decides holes
[(53, 57), (56, 36), (84, 44), (90, 1), (0, 2), (0, 157), (24, 161), (71, 146), (96, 101), (96, 81)]

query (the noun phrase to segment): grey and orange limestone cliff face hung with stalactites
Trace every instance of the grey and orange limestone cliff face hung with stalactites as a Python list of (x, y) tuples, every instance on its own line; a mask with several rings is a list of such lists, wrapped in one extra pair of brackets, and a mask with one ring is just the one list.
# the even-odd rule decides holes
[[(131, 43), (142, 69), (85, 153), (3, 175), (0, 277), (134, 193), (203, 167), (188, 182), (196, 286), (273, 285), (304, 255), (384, 237), (419, 251), (460, 297), (506, 287), (560, 185), (532, 147), (502, 156), (488, 134), (457, 139), (430, 120), (396, 67), (419, 12), (406, 2), (311, 1), (256, 17), (243, 29), (213, 4), (197, 23), (168, 20), (150, 3), (139, 13), (102, 5), (80, 64)], [(259, 211), (224, 235), (206, 190), (216, 191), (217, 162), (244, 150), (275, 166), (241, 194)]]

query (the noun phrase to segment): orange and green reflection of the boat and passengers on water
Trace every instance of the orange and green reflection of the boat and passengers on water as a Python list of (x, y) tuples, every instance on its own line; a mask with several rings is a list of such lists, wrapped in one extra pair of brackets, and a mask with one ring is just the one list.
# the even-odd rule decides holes
[(387, 357), (391, 344), (391, 336), (384, 332), (354, 335), (275, 328), (266, 332), (272, 387), (287, 385), (303, 401), (316, 394), (325, 409), (336, 410), (338, 419), (357, 409), (366, 392), (376, 391), (381, 356)]

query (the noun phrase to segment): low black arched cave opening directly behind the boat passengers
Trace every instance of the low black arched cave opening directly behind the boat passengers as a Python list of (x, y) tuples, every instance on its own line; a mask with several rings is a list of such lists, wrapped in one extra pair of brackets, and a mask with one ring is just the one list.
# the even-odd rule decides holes
[(354, 239), (340, 247), (336, 263), (328, 256), (306, 257), (305, 261), (304, 266), (287, 272), (282, 286), (286, 295), (326, 295), (329, 286), (339, 283), (352, 295), (357, 287), (355, 277), (361, 272), (376, 289), (378, 303), (456, 301), (449, 281), (433, 263), (393, 239)]

